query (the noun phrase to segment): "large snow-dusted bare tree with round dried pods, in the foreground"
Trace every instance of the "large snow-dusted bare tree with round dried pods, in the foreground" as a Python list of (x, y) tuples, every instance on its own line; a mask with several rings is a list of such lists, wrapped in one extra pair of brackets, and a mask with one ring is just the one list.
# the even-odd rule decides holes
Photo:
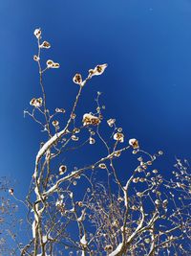
[[(35, 157), (26, 199), (32, 236), (28, 244), (18, 247), (20, 255), (188, 255), (189, 169), (179, 160), (175, 180), (160, 175), (153, 166), (162, 151), (150, 154), (140, 148), (137, 139), (127, 140), (116, 119), (104, 116), (100, 92), (95, 109), (77, 116), (84, 86), (101, 75), (107, 64), (90, 69), (85, 79), (74, 75), (78, 92), (68, 118), (63, 108), (51, 113), (43, 76), (59, 68), (59, 63), (49, 59), (43, 67), (41, 52), (51, 44), (42, 41), (40, 29), (34, 35), (38, 52), (33, 59), (38, 65), (42, 96), (32, 99), (32, 110), (25, 110), (25, 114), (47, 139)], [(82, 147), (89, 151), (96, 145), (105, 150), (89, 165), (74, 167), (72, 157), (68, 161), (64, 158)], [(136, 158), (131, 171), (119, 165), (124, 153), (134, 161)], [(121, 171), (127, 173), (126, 179), (124, 175), (120, 178)]]

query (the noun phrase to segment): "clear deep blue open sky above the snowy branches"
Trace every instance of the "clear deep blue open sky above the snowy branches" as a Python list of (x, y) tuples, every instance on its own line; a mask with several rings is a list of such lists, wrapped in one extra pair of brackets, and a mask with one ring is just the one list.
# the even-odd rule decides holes
[(23, 118), (32, 97), (40, 96), (33, 30), (41, 27), (52, 43), (44, 60), (60, 63), (45, 77), (50, 108), (70, 107), (75, 72), (85, 77), (108, 63), (87, 85), (78, 111), (91, 111), (96, 91), (103, 92), (106, 116), (146, 151), (164, 151), (159, 168), (169, 173), (175, 155), (191, 156), (190, 24), (188, 0), (1, 1), (0, 175), (16, 180), (18, 196), (27, 192), (42, 140), (38, 126)]

